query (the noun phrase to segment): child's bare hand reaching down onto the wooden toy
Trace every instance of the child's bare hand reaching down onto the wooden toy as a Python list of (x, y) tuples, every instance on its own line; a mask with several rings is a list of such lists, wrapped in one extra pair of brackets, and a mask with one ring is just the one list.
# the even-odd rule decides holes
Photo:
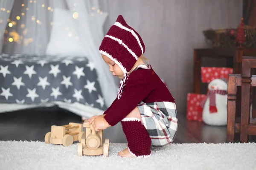
[(91, 117), (89, 124), (93, 125), (96, 131), (107, 129), (108, 127), (110, 127), (110, 125), (104, 119), (104, 116), (105, 115)]

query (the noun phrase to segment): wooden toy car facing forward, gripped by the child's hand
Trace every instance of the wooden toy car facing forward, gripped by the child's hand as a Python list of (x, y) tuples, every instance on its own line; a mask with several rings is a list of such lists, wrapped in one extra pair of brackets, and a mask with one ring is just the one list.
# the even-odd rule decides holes
[(81, 139), (81, 142), (78, 144), (78, 155), (96, 156), (103, 154), (103, 156), (108, 157), (109, 139), (105, 139), (105, 143), (102, 143), (103, 130), (99, 130), (96, 133), (93, 126), (89, 125), (88, 120), (84, 121), (83, 126), (86, 128), (86, 137)]

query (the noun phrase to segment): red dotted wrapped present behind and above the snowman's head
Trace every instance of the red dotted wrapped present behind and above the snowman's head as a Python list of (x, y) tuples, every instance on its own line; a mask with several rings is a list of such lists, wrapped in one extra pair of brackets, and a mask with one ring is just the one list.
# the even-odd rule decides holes
[(204, 83), (209, 83), (214, 79), (228, 79), (229, 74), (233, 74), (233, 68), (201, 67), (201, 77)]

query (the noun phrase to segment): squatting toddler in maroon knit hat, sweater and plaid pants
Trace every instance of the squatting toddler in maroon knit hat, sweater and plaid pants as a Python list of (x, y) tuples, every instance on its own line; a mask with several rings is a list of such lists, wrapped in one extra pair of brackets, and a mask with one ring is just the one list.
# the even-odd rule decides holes
[(140, 35), (119, 15), (99, 47), (113, 76), (121, 79), (118, 94), (100, 116), (92, 116), (95, 130), (121, 121), (128, 148), (122, 157), (147, 157), (151, 147), (164, 147), (175, 138), (178, 126), (175, 99), (151, 65), (145, 64)]

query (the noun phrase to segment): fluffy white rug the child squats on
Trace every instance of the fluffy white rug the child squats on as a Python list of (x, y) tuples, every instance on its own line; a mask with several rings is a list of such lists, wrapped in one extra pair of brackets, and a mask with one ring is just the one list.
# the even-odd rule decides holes
[(44, 142), (0, 141), (1, 170), (252, 170), (255, 143), (172, 144), (148, 158), (121, 158), (127, 144), (110, 143), (109, 157), (77, 156), (70, 147)]

